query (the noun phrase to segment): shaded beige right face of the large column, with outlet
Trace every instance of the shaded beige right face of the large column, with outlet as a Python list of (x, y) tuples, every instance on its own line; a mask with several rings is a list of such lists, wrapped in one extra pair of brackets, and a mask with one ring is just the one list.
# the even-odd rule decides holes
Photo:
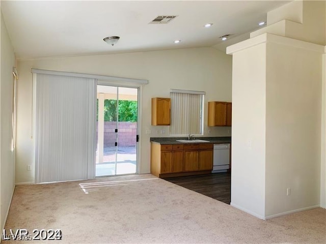
[(266, 58), (268, 217), (319, 205), (322, 60), (321, 53), (275, 43), (267, 44)]

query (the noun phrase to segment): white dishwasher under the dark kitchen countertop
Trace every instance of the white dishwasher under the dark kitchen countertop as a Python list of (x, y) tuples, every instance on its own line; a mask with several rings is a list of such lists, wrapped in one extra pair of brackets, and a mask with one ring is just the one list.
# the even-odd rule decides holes
[(230, 143), (214, 144), (212, 173), (226, 172), (230, 166)]

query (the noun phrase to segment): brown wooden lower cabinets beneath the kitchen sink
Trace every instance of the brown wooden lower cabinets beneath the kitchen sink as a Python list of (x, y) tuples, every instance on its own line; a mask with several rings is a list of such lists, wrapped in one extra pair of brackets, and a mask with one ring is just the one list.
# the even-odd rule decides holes
[(151, 173), (160, 178), (210, 173), (213, 144), (160, 145), (151, 142)]

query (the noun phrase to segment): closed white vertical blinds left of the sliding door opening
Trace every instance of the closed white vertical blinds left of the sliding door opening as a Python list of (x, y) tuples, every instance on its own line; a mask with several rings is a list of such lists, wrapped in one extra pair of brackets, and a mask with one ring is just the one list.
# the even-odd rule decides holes
[(37, 74), (38, 182), (86, 179), (94, 160), (95, 80)]

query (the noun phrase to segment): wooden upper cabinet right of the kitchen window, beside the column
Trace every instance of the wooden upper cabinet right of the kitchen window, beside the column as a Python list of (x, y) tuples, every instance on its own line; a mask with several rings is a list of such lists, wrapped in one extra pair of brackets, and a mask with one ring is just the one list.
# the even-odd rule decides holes
[(231, 126), (232, 103), (208, 102), (208, 126)]

